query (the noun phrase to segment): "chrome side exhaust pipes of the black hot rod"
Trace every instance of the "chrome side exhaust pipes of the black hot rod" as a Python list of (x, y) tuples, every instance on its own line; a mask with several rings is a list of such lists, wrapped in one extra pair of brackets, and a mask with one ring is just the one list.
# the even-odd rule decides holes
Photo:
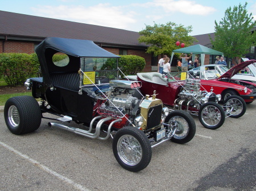
[(97, 118), (101, 118), (102, 116), (97, 116), (97, 117), (94, 117), (93, 120), (90, 122), (90, 128), (89, 130), (84, 130), (84, 129), (79, 129), (79, 128), (73, 128), (71, 126), (66, 126), (66, 125), (62, 125), (62, 124), (56, 124), (56, 123), (53, 123), (53, 122), (49, 122), (48, 125), (49, 126), (53, 126), (55, 128), (60, 128), (60, 129), (64, 129), (64, 130), (68, 130), (68, 131), (71, 131), (73, 133), (76, 133), (76, 134), (79, 134), (79, 135), (82, 135), (82, 136), (85, 136), (85, 137), (89, 137), (89, 138), (92, 138), (92, 139), (101, 139), (101, 140), (106, 140), (110, 137), (110, 130), (112, 128), (112, 125), (115, 124), (115, 122), (119, 122), (119, 121), (122, 121), (121, 118), (118, 118), (117, 120), (114, 120), (110, 123), (109, 125), (109, 128), (108, 128), (108, 132), (107, 132), (107, 135), (106, 137), (100, 137), (100, 130), (101, 130), (101, 126), (102, 124), (104, 124), (104, 122), (106, 121), (110, 121), (112, 120), (113, 118), (112, 117), (106, 117), (106, 118), (102, 118), (100, 121), (98, 121), (97, 125), (96, 125), (96, 129), (95, 129), (95, 132), (94, 133), (90, 133), (90, 131), (92, 131), (92, 128), (93, 128), (93, 122), (97, 119)]

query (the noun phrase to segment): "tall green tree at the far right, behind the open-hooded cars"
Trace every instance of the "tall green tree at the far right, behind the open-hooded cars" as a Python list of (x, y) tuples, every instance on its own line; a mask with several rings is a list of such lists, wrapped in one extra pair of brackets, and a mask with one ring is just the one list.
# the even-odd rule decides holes
[(223, 52), (226, 57), (233, 58), (238, 63), (242, 56), (249, 52), (251, 46), (256, 45), (256, 21), (252, 14), (248, 15), (244, 6), (234, 6), (226, 9), (224, 18), (217, 24), (215, 20), (215, 37), (213, 49)]

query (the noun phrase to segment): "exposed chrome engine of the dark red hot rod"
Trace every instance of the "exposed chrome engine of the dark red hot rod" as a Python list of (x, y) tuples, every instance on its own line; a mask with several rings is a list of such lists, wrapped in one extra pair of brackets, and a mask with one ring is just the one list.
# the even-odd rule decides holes
[(174, 101), (174, 109), (183, 109), (189, 111), (189, 108), (199, 109), (201, 104), (208, 101), (218, 102), (221, 95), (213, 92), (200, 90), (200, 79), (186, 79), (185, 86), (179, 93), (179, 98)]

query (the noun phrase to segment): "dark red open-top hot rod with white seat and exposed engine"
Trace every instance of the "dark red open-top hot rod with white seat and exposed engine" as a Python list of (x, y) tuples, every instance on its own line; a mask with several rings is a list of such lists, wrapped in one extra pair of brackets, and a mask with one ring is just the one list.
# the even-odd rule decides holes
[(208, 129), (217, 129), (225, 122), (225, 117), (238, 118), (246, 112), (245, 101), (239, 96), (230, 96), (223, 106), (218, 104), (220, 94), (215, 94), (213, 88), (209, 91), (200, 90), (200, 79), (194, 79), (185, 72), (171, 72), (166, 76), (151, 72), (138, 73), (129, 77), (142, 82), (143, 95), (152, 90), (158, 92), (158, 97), (171, 111), (182, 109), (199, 117), (201, 124)]

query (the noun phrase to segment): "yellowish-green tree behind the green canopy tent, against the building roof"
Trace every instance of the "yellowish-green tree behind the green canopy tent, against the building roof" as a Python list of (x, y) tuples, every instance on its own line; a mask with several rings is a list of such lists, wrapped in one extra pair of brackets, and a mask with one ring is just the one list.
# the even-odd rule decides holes
[(172, 50), (178, 48), (175, 45), (176, 41), (185, 43), (185, 46), (193, 45), (197, 41), (195, 37), (189, 36), (192, 31), (192, 26), (184, 27), (183, 25), (168, 22), (164, 24), (154, 24), (154, 26), (146, 25), (146, 29), (139, 32), (139, 43), (150, 45), (147, 48), (147, 53), (154, 53), (154, 56), (159, 54), (171, 55)]

